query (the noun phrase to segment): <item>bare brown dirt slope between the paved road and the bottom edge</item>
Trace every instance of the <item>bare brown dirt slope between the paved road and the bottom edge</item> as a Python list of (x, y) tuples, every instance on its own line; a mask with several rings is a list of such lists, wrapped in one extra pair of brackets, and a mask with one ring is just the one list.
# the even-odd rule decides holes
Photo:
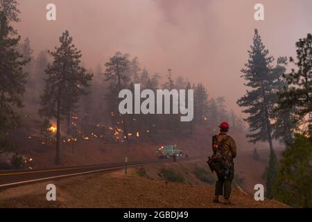
[[(231, 205), (222, 199), (214, 204), (214, 187), (193, 173), (196, 167), (202, 166), (177, 162), (130, 169), (127, 176), (124, 171), (94, 173), (3, 189), (0, 207), (288, 207), (275, 200), (255, 201), (238, 189), (233, 189)], [(57, 187), (56, 201), (46, 200), (50, 183)]]

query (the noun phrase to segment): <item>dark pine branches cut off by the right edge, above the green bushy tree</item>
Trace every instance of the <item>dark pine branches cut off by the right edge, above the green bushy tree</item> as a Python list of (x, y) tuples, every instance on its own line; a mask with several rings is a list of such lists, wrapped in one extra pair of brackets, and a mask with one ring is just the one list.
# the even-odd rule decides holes
[(296, 114), (302, 119), (306, 116), (312, 126), (312, 35), (296, 42), (297, 62), (290, 61), (297, 66), (291, 74), (284, 75), (288, 82), (288, 89), (279, 96), (281, 108), (296, 107)]

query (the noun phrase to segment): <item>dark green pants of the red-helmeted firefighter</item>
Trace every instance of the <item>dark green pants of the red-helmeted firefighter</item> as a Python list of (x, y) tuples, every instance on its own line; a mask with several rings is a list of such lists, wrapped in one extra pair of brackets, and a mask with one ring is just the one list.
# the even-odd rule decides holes
[[(234, 164), (232, 164), (231, 168), (229, 169), (229, 173), (227, 176), (224, 174), (218, 175), (218, 181), (216, 182), (216, 196), (224, 196), (225, 198), (229, 198), (232, 191), (232, 180), (234, 178)], [(223, 191), (224, 189), (224, 191)]]

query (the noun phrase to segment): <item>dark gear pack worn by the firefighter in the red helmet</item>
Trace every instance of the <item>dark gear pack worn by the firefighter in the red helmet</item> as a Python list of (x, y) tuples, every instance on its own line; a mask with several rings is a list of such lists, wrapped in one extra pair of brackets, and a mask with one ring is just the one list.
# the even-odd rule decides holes
[(229, 136), (225, 136), (225, 138), (223, 138), (222, 141), (218, 143), (217, 135), (212, 137), (212, 148), (214, 154), (211, 157), (208, 157), (207, 164), (209, 165), (211, 172), (215, 171), (218, 176), (227, 176), (232, 165), (232, 162), (229, 160), (229, 158), (222, 153), (222, 148), (227, 139), (229, 139)]

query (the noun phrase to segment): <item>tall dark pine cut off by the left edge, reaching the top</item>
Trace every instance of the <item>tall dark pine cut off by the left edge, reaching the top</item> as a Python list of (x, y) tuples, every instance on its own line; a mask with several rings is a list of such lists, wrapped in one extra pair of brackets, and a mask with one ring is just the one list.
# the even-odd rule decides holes
[(18, 116), (14, 108), (22, 108), (26, 76), (24, 60), (18, 51), (20, 37), (10, 22), (19, 22), (15, 0), (0, 1), (0, 131), (15, 125)]

